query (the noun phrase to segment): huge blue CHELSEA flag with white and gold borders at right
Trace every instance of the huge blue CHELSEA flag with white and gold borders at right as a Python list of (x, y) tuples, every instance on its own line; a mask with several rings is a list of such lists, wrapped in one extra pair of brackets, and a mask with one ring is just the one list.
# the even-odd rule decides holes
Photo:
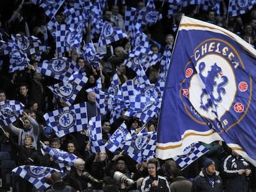
[(239, 36), (182, 17), (161, 106), (156, 156), (224, 140), (256, 160), (256, 50)]

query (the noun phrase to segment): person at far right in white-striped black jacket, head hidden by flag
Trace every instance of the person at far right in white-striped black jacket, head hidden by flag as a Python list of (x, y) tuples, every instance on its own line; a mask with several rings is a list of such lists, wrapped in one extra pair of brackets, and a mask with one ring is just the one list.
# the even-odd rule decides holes
[(249, 176), (252, 172), (249, 164), (236, 151), (226, 157), (223, 164), (224, 176), (227, 178), (227, 192), (248, 192)]

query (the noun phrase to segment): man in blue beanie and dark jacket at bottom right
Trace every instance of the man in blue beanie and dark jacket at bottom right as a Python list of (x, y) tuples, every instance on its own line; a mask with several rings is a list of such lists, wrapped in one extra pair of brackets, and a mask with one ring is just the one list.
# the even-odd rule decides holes
[(215, 162), (206, 158), (203, 161), (203, 169), (192, 185), (192, 192), (221, 192), (222, 179), (219, 172), (215, 170)]

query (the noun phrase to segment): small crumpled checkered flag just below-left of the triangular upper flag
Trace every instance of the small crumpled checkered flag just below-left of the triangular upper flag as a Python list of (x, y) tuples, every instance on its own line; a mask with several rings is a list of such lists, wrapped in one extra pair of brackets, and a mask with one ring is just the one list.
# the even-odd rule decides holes
[(91, 64), (95, 67), (99, 66), (100, 59), (102, 59), (106, 54), (105, 52), (96, 54), (96, 51), (92, 42), (87, 43), (85, 46), (83, 46), (83, 52), (87, 59), (88, 64)]

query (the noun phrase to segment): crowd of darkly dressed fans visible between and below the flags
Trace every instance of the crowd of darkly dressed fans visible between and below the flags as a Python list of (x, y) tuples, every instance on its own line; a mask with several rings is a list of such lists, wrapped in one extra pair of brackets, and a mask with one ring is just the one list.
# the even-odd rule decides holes
[[(143, 1), (108, 1), (103, 12), (103, 19), (121, 29), (124, 29), (125, 6), (142, 9)], [(233, 31), (248, 41), (252, 46), (256, 43), (256, 9), (237, 17), (226, 17), (227, 2), (221, 4), (221, 14), (216, 15), (213, 10), (203, 11), (197, 6), (184, 8), (184, 13), (196, 19), (205, 20)], [(2, 0), (0, 2), (0, 27), (6, 31), (1, 38), (7, 40), (11, 34), (34, 35), (40, 38), (46, 45), (46, 52), (42, 53), (41, 61), (52, 59), (56, 56), (54, 38), (46, 28), (48, 18), (45, 11), (29, 1)], [(166, 2), (167, 4), (167, 2)], [(145, 26), (144, 33), (150, 40), (150, 48), (160, 57), (164, 47), (171, 50), (177, 26), (182, 13), (167, 17), (168, 6), (163, 2), (155, 2), (158, 10), (163, 14), (163, 19), (155, 25)], [(163, 5), (163, 6), (162, 6)], [(56, 19), (64, 22), (64, 16), (59, 10)], [(88, 42), (90, 28), (85, 29), (83, 39)], [(97, 43), (97, 39), (93, 39)], [(101, 50), (102, 49), (102, 50)], [(79, 64), (80, 69), (87, 74), (88, 82), (80, 90), (75, 104), (88, 103), (88, 117), (97, 114), (95, 106), (95, 93), (89, 88), (96, 86), (96, 80), (101, 77), (103, 90), (108, 90), (115, 70), (117, 70), (119, 85), (133, 79), (135, 72), (127, 68), (122, 62), (128, 56), (130, 44), (128, 39), (108, 44), (99, 51), (106, 51), (106, 55), (100, 61), (100, 67), (88, 65), (80, 52), (71, 50), (65, 53), (73, 61)], [(74, 167), (62, 178), (58, 172), (54, 172), (48, 182), (51, 189), (46, 191), (230, 191), (249, 192), (256, 191), (256, 169), (241, 156), (228, 148), (222, 141), (204, 144), (209, 149), (207, 154), (181, 170), (179, 165), (169, 159), (150, 159), (141, 164), (133, 161), (126, 152), (117, 150), (114, 154), (106, 152), (93, 153), (90, 151), (90, 143), (86, 131), (69, 133), (58, 138), (46, 125), (43, 114), (46, 112), (66, 107), (67, 104), (47, 88), (58, 83), (51, 77), (36, 72), (38, 61), (30, 56), (30, 64), (20, 72), (9, 73), (9, 57), (1, 56), (0, 76), (0, 101), (17, 100), (25, 105), (23, 115), (1, 130), (1, 144), (10, 144), (11, 159), (19, 165), (41, 165), (59, 169), (59, 165), (46, 152), (41, 152), (39, 141), (46, 146), (62, 149), (75, 154), (79, 159)], [(147, 70), (147, 76), (151, 83), (158, 79), (159, 64)], [(88, 90), (89, 89), (89, 90)], [(87, 91), (86, 91), (87, 90)], [(132, 134), (139, 133), (142, 129), (140, 119), (125, 117), (124, 115), (114, 123), (109, 122), (109, 114), (102, 120), (103, 141), (106, 142), (111, 134), (122, 122), (126, 122)], [(157, 130), (157, 119), (153, 118), (147, 125), (147, 131)], [(15, 191), (35, 191), (33, 185), (22, 178), (18, 180)]]

